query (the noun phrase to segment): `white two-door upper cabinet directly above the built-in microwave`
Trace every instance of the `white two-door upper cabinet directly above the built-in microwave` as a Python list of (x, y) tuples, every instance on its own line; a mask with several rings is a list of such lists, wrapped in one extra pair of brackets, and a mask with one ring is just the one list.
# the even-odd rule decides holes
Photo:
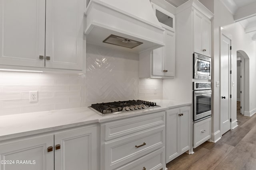
[(211, 21), (201, 12), (193, 12), (194, 52), (211, 57)]

